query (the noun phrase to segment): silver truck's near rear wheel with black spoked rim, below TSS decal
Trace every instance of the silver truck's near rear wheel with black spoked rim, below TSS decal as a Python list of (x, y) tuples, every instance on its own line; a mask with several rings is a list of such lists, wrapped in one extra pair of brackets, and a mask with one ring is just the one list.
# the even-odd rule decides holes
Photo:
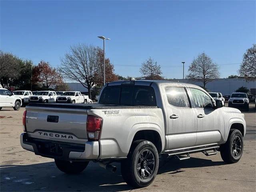
[(158, 166), (156, 146), (147, 140), (136, 140), (132, 143), (127, 159), (121, 162), (121, 173), (127, 184), (142, 188), (154, 181)]

